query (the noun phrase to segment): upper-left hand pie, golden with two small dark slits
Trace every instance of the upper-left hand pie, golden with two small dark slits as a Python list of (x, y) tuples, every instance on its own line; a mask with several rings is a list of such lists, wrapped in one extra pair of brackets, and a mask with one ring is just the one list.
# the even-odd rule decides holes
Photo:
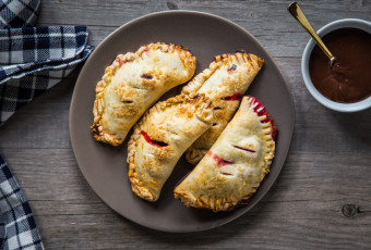
[(180, 46), (151, 43), (135, 53), (119, 54), (96, 86), (96, 140), (118, 146), (142, 114), (177, 85), (189, 80), (195, 58)]

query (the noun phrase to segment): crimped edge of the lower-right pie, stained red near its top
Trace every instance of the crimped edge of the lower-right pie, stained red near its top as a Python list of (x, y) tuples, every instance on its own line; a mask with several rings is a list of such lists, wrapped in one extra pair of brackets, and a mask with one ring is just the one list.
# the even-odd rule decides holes
[[(242, 99), (241, 107), (246, 104), (244, 102), (247, 102), (247, 104), (249, 104), (249, 109), (253, 110), (254, 107), (258, 105), (258, 103), (254, 103), (254, 100), (256, 100), (254, 97), (246, 96)], [(263, 115), (263, 116), (259, 116), (259, 118), (262, 122), (265, 118), (267, 118), (267, 116)], [(199, 199), (195, 196), (193, 196), (190, 191), (176, 191), (175, 189), (175, 198), (179, 199), (187, 208), (207, 209), (207, 210), (212, 210), (213, 212), (232, 211), (238, 207), (248, 204), (251, 196), (258, 190), (260, 184), (262, 183), (266, 174), (270, 173), (270, 167), (275, 155), (275, 140), (272, 137), (272, 129), (274, 125), (272, 121), (270, 121), (268, 123), (262, 123), (262, 126), (263, 126), (263, 129), (266, 129), (265, 132), (268, 132), (268, 134), (266, 134), (266, 136), (264, 137), (265, 141), (267, 142), (268, 150), (265, 153), (265, 157), (263, 159), (264, 164), (262, 167), (262, 173), (260, 176), (259, 185), (252, 188), (252, 191), (250, 193), (247, 193), (237, 202), (230, 199), (227, 199), (226, 197), (217, 197), (217, 198), (207, 197), (207, 200), (205, 202), (204, 200)]]

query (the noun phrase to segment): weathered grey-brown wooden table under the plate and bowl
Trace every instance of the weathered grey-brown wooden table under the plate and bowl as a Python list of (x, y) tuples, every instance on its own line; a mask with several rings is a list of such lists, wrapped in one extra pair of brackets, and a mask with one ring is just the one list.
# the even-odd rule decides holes
[[(371, 110), (336, 113), (310, 96), (300, 73), (309, 36), (288, 14), (288, 3), (43, 1), (38, 25), (87, 25), (94, 46), (152, 12), (184, 9), (229, 18), (275, 58), (296, 105), (288, 158), (254, 209), (208, 232), (166, 234), (118, 215), (82, 176), (69, 135), (76, 70), (0, 127), (0, 152), (31, 203), (46, 249), (371, 248)], [(315, 29), (345, 17), (371, 21), (371, 1), (302, 1), (301, 7)]]

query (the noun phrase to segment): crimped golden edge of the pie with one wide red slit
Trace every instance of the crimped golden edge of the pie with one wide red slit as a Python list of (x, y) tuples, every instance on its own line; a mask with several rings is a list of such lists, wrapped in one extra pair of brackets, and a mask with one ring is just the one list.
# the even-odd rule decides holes
[[(191, 95), (179, 95), (172, 98), (169, 98), (166, 101), (158, 102), (152, 109), (149, 109), (142, 117), (142, 120), (135, 124), (133, 128), (133, 134), (128, 142), (128, 165), (129, 165), (129, 179), (132, 186), (133, 192), (145, 200), (156, 201), (158, 197), (156, 197), (151, 190), (137, 178), (135, 171), (135, 149), (136, 141), (141, 137), (142, 126), (147, 122), (148, 117), (152, 113), (163, 112), (164, 110), (171, 108), (172, 105), (181, 104), (181, 103), (196, 103), (200, 105), (200, 109), (210, 109), (212, 107), (212, 101), (210, 98), (205, 97), (203, 93), (191, 93)], [(212, 121), (205, 121), (202, 117), (199, 117), (200, 121), (205, 123), (211, 123)]]

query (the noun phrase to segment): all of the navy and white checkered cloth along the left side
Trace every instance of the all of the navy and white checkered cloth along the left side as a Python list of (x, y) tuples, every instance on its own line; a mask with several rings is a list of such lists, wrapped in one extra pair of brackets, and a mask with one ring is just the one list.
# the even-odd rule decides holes
[[(86, 26), (31, 27), (40, 0), (0, 0), (0, 126), (58, 84), (94, 47)], [(0, 249), (44, 249), (27, 200), (0, 155)]]

